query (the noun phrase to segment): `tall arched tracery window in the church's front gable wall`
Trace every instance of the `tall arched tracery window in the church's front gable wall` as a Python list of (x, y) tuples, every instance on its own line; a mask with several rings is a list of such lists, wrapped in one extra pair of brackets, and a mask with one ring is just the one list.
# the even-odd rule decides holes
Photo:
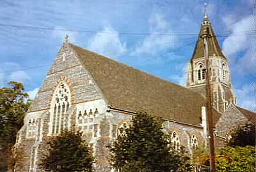
[(68, 117), (66, 115), (71, 104), (70, 89), (65, 82), (60, 82), (54, 90), (51, 101), (50, 133), (58, 134), (67, 128)]

